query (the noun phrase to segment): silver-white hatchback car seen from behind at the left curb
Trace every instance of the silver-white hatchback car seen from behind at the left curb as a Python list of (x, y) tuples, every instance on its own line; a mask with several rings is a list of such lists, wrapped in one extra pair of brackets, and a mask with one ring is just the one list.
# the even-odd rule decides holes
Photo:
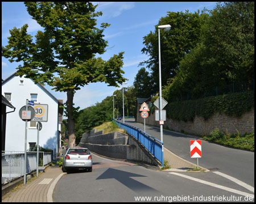
[(92, 155), (88, 148), (70, 147), (64, 154), (62, 171), (68, 172), (71, 169), (86, 169), (92, 172)]

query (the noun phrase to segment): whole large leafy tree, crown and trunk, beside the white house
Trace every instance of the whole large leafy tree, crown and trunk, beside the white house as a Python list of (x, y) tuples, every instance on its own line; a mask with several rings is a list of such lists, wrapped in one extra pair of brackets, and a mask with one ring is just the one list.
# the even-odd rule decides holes
[(38, 31), (35, 42), (28, 35), (28, 25), (10, 30), (9, 44), (2, 46), (2, 56), (23, 62), (17, 74), (35, 83), (47, 83), (53, 90), (67, 92), (68, 147), (75, 144), (73, 96), (80, 87), (92, 82), (105, 82), (118, 87), (125, 82), (121, 69), (123, 52), (108, 61), (103, 54), (108, 44), (102, 37), (110, 24), (96, 27), (96, 6), (90, 2), (24, 2), (28, 13), (44, 31)]

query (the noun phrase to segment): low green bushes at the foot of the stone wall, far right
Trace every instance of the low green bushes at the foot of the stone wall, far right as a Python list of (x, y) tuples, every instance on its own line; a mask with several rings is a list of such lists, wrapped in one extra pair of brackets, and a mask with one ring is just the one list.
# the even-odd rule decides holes
[(216, 128), (210, 133), (210, 135), (204, 136), (204, 139), (230, 147), (254, 151), (254, 128), (251, 133), (243, 135), (240, 135), (239, 131), (237, 134), (222, 133)]

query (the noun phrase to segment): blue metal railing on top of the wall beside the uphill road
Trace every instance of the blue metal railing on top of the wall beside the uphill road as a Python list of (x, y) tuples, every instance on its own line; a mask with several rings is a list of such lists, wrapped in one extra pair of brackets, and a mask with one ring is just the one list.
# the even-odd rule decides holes
[(119, 128), (125, 129), (127, 133), (137, 139), (141, 145), (146, 148), (146, 150), (150, 152), (150, 154), (163, 166), (163, 142), (145, 133), (139, 128), (129, 124), (124, 124), (123, 122), (119, 122), (114, 119), (113, 121), (118, 124)]

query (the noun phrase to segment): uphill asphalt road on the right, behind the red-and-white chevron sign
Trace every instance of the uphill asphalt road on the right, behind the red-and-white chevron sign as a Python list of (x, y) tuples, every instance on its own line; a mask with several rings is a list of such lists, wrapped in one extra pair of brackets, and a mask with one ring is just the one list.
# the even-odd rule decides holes
[[(122, 121), (121, 121), (122, 122)], [(126, 119), (127, 124), (144, 130), (144, 124)], [(146, 133), (160, 140), (159, 128), (146, 125)], [(163, 130), (164, 147), (181, 158), (196, 164), (196, 159), (190, 157), (190, 143), (195, 136)], [(224, 147), (212, 142), (202, 141), (202, 158), (199, 165), (207, 169), (217, 169), (226, 175), (235, 177), (254, 187), (254, 152)]]

